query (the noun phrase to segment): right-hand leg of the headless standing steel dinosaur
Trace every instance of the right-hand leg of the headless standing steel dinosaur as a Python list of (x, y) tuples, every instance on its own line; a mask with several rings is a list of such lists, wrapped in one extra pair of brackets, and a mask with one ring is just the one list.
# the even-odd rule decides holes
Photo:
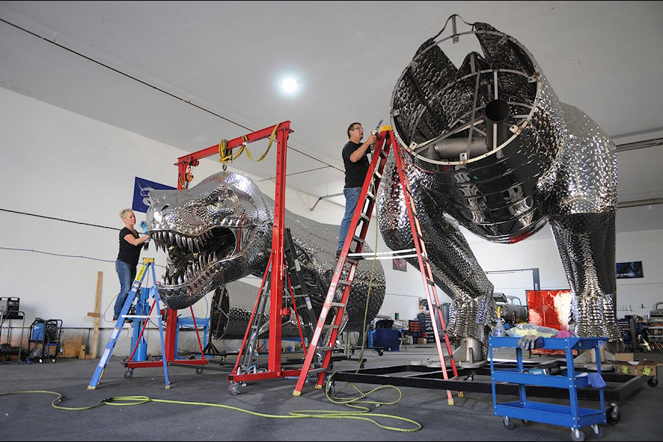
[(615, 305), (615, 145), (574, 106), (564, 104), (564, 116), (573, 137), (559, 157), (550, 226), (573, 296), (576, 334), (607, 336), (611, 351), (618, 352), (624, 342)]

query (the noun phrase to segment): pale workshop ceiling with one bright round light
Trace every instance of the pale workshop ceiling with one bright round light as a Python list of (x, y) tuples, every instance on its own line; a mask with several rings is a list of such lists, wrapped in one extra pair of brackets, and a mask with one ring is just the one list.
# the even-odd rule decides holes
[[(186, 152), (289, 121), (287, 186), (343, 204), (347, 126), (390, 123), (403, 69), (454, 14), (519, 40), (618, 146), (663, 137), (660, 1), (0, 1), (0, 87)], [(620, 204), (661, 202), (654, 144), (619, 151)], [(233, 168), (269, 180), (275, 157)], [(618, 220), (663, 229), (662, 208)]]

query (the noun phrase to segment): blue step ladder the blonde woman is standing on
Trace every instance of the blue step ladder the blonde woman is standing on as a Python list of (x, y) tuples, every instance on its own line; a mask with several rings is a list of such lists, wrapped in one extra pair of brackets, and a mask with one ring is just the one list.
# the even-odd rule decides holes
[[(148, 269), (152, 269), (153, 286), (149, 290), (150, 290), (150, 297), (153, 298), (154, 300), (150, 311), (153, 311), (154, 307), (156, 307), (157, 315), (156, 316), (150, 316), (149, 314), (128, 315), (128, 311), (131, 308), (133, 300), (135, 299), (138, 291), (140, 290), (140, 286), (142, 285), (143, 279), (145, 278), (146, 274), (148, 274)], [(122, 306), (122, 312), (119, 314), (117, 318), (117, 323), (115, 323), (115, 327), (113, 327), (113, 332), (111, 332), (111, 338), (108, 339), (108, 344), (106, 344), (106, 349), (104, 349), (104, 354), (102, 354), (102, 357), (99, 359), (99, 364), (97, 364), (97, 369), (95, 369), (95, 374), (92, 376), (92, 379), (90, 380), (90, 384), (88, 385), (88, 390), (95, 390), (97, 388), (97, 385), (99, 385), (99, 381), (101, 381), (101, 378), (104, 375), (104, 370), (106, 369), (106, 365), (108, 365), (108, 360), (111, 358), (111, 355), (113, 354), (113, 349), (115, 348), (115, 344), (117, 343), (117, 338), (119, 338), (119, 332), (122, 330), (126, 318), (157, 319), (157, 323), (159, 324), (159, 335), (161, 337), (161, 354), (162, 354), (162, 361), (164, 363), (166, 390), (170, 389), (171, 383), (168, 378), (168, 362), (166, 361), (166, 344), (164, 342), (164, 329), (162, 327), (161, 309), (159, 307), (160, 306), (159, 289), (156, 285), (156, 280), (157, 278), (155, 276), (155, 271), (154, 271), (154, 258), (143, 258), (143, 263), (140, 269), (138, 270), (138, 273), (136, 273), (136, 278), (133, 281), (133, 285), (131, 286), (131, 291), (129, 291), (129, 294), (126, 297), (126, 301), (124, 301), (124, 306)], [(144, 327), (145, 325), (143, 326), (143, 328)], [(143, 331), (144, 330), (141, 330), (141, 334)]]

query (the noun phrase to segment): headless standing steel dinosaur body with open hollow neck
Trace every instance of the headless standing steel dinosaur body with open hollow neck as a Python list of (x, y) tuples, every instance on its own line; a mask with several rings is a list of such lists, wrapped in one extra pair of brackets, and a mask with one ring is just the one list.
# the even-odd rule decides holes
[[(493, 285), (457, 224), (515, 243), (550, 222), (576, 334), (608, 336), (617, 351), (615, 145), (590, 117), (557, 99), (519, 41), (486, 23), (462, 21), (469, 29), (458, 32), (459, 21), (450, 17), (416, 51), (390, 109), (434, 278), (453, 300), (448, 332), (460, 358), (454, 356), (483, 360), (496, 319)], [(451, 35), (437, 39), (449, 23)], [(378, 220), (387, 246), (407, 249), (412, 234), (401, 188), (388, 185), (394, 180), (390, 159)]]

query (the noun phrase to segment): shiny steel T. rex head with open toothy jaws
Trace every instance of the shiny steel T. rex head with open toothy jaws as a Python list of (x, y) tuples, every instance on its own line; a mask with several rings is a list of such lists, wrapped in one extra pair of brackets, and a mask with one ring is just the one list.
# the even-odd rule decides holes
[(216, 173), (191, 189), (150, 191), (148, 232), (168, 255), (159, 294), (183, 309), (216, 287), (262, 271), (273, 208), (249, 177)]

